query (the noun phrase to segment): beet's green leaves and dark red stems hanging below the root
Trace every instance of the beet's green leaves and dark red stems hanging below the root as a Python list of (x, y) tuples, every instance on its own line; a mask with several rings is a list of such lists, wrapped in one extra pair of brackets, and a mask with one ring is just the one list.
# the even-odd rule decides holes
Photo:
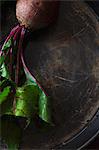
[[(18, 32), (20, 36), (22, 30), (23, 28)], [(49, 98), (25, 66), (23, 54), (20, 51), (22, 37), (18, 39), (14, 39), (14, 36), (11, 36), (4, 42), (0, 51), (0, 115), (1, 117), (4, 115), (16, 118), (24, 117), (28, 123), (35, 116), (39, 116), (43, 121), (51, 123)], [(6, 121), (2, 123), (3, 129), (7, 127), (3, 125), (4, 122)], [(7, 123), (9, 124), (9, 121)], [(17, 127), (15, 126), (15, 128)], [(18, 132), (14, 133), (16, 138), (18, 137), (17, 133), (20, 135), (19, 129), (17, 130)], [(11, 136), (9, 134), (9, 137)], [(9, 140), (6, 136), (3, 136), (3, 138), (9, 147), (13, 147), (13, 149), (17, 147), (15, 146), (17, 145), (17, 140), (14, 140), (15, 142), (13, 143), (13, 140)]]

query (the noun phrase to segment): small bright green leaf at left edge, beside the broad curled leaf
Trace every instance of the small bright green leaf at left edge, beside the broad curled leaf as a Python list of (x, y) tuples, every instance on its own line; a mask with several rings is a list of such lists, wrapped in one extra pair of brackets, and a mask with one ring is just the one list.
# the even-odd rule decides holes
[(13, 114), (13, 99), (14, 99), (14, 92), (12, 88), (14, 84), (12, 81), (8, 79), (3, 79), (0, 82), (0, 114)]

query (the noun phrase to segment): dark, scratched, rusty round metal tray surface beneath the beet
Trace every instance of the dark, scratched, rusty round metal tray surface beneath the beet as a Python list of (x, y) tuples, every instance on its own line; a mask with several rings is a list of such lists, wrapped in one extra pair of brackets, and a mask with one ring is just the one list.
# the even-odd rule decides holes
[[(2, 33), (14, 24), (12, 21), (6, 27), (3, 21)], [(65, 1), (61, 2), (57, 23), (28, 38), (25, 61), (51, 97), (55, 127), (46, 132), (29, 127), (21, 148), (51, 148), (62, 143), (87, 125), (97, 111), (98, 26), (95, 15), (85, 4)]]

